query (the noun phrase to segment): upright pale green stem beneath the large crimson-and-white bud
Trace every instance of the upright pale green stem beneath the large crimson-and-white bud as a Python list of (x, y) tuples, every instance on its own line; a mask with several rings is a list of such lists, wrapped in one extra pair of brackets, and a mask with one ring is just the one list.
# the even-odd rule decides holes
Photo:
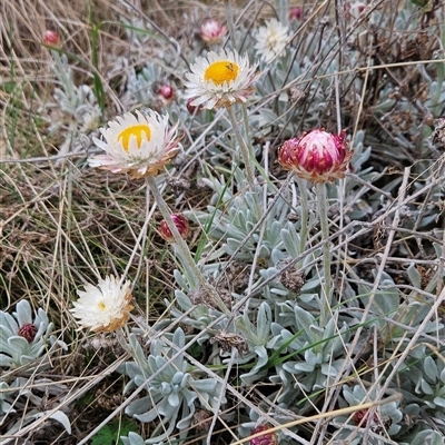
[(320, 327), (326, 326), (329, 320), (329, 312), (332, 304), (332, 277), (330, 277), (330, 253), (329, 253), (329, 221), (327, 219), (327, 197), (326, 197), (326, 185), (324, 182), (317, 182), (317, 205), (318, 205), (318, 217), (320, 220), (322, 239), (323, 239), (323, 269), (325, 277), (325, 298), (322, 298), (320, 307)]

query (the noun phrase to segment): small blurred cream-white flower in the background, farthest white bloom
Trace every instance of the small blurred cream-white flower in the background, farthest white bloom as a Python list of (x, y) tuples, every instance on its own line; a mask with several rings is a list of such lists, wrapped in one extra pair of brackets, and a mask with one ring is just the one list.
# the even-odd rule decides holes
[(277, 19), (271, 19), (258, 29), (255, 49), (261, 60), (270, 63), (276, 56), (285, 55), (288, 38), (288, 28)]

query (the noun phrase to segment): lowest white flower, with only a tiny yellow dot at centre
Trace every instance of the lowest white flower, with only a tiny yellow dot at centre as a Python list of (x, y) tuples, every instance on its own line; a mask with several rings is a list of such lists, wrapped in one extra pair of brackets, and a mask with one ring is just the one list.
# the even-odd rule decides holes
[(80, 328), (89, 328), (95, 333), (110, 333), (128, 322), (130, 305), (130, 281), (120, 284), (120, 279), (108, 276), (99, 279), (98, 286), (86, 285), (85, 290), (78, 290), (79, 299), (70, 309), (78, 318)]

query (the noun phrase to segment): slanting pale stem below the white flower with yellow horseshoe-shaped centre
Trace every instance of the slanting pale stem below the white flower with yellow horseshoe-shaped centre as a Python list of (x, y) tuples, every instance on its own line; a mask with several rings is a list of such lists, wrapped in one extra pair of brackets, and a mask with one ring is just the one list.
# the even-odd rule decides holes
[(226, 305), (224, 304), (222, 299), (219, 297), (219, 295), (215, 290), (215, 288), (208, 284), (206, 277), (202, 275), (199, 267), (197, 266), (194, 258), (191, 257), (190, 249), (188, 248), (186, 241), (180, 236), (178, 228), (171, 220), (171, 211), (168, 208), (167, 202), (164, 200), (162, 195), (160, 194), (160, 191), (158, 189), (158, 186), (156, 184), (156, 179), (154, 176), (147, 177), (147, 185), (150, 188), (150, 190), (155, 197), (156, 204), (158, 205), (159, 210), (162, 214), (162, 217), (164, 217), (165, 221), (167, 222), (167, 226), (175, 238), (176, 247), (178, 248), (179, 257), (182, 260), (181, 261), (182, 266), (187, 270), (187, 275), (191, 279), (198, 280), (199, 286), (209, 293), (209, 295), (211, 296), (211, 298), (215, 300), (218, 308), (222, 313), (225, 313), (226, 315), (230, 315), (230, 310), (228, 310), (228, 308), (226, 307)]

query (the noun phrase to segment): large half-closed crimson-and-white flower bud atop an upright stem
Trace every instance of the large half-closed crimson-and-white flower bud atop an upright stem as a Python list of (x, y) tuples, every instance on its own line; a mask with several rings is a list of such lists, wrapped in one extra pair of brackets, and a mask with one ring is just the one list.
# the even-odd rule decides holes
[(287, 140), (278, 149), (278, 161), (287, 170), (314, 182), (345, 177), (352, 151), (347, 151), (345, 130), (338, 136), (320, 130)]

